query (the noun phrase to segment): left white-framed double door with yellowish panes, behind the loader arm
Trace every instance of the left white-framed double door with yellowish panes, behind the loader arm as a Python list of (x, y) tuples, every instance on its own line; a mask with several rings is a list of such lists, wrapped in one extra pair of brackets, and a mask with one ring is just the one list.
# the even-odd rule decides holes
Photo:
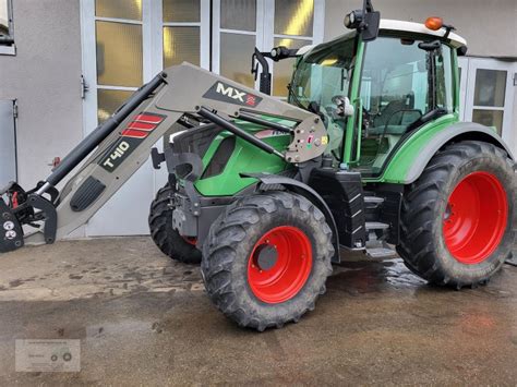
[[(209, 0), (83, 0), (81, 13), (84, 135), (164, 66), (185, 60), (208, 69)], [(86, 234), (147, 234), (148, 207), (165, 182), (146, 162), (89, 220)]]

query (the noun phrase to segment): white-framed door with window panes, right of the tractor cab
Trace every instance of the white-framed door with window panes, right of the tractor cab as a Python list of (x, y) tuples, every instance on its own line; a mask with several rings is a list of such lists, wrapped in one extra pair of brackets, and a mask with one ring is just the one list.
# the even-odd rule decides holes
[(465, 121), (495, 128), (508, 144), (513, 142), (514, 69), (514, 63), (469, 58), (465, 71)]

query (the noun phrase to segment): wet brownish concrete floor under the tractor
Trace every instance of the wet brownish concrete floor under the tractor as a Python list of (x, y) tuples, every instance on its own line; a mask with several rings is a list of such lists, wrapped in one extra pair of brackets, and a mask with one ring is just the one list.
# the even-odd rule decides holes
[[(316, 310), (240, 329), (197, 267), (147, 238), (0, 256), (0, 385), (517, 384), (517, 268), (488, 287), (426, 286), (398, 259), (335, 267)], [(81, 339), (80, 373), (16, 373), (14, 339)]]

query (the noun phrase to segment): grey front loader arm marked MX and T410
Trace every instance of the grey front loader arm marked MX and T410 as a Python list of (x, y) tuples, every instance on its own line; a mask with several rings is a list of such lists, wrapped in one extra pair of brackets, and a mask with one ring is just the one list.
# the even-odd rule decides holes
[[(11, 183), (0, 191), (0, 253), (25, 243), (52, 243), (84, 225), (146, 162), (161, 137), (184, 129), (179, 123), (185, 117), (211, 121), (292, 164), (322, 155), (328, 141), (320, 117), (309, 111), (190, 63), (166, 69), (86, 136), (35, 189), (24, 191)], [(232, 123), (239, 118), (273, 125), (264, 117), (293, 123), (276, 128), (291, 134), (286, 149), (275, 149)], [(36, 231), (28, 233), (31, 227)]]

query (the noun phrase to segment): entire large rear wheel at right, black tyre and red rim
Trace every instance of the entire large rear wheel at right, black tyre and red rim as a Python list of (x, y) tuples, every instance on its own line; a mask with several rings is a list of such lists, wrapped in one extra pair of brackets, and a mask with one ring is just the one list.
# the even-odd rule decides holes
[(512, 252), (516, 192), (506, 153), (481, 142), (448, 146), (407, 190), (398, 253), (430, 282), (485, 283)]

